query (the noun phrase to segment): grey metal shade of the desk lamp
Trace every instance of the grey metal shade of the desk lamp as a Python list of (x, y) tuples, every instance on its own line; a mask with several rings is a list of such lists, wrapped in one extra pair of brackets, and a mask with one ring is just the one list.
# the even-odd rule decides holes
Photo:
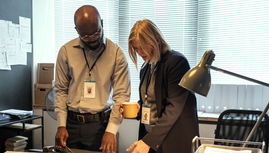
[(215, 54), (212, 50), (206, 51), (198, 65), (186, 72), (178, 85), (207, 97), (211, 85), (211, 76), (210, 69), (206, 68), (206, 65), (211, 65), (214, 58)]

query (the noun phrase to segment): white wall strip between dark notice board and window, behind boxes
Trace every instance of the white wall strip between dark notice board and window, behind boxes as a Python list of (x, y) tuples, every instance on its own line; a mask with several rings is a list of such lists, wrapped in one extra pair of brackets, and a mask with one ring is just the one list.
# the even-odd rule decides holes
[[(38, 63), (55, 63), (53, 0), (32, 0), (33, 5), (33, 104), (34, 84), (37, 81)], [(44, 145), (52, 146), (57, 131), (56, 121), (43, 109), (34, 108), (34, 114), (44, 116)], [(34, 120), (34, 124), (41, 121)], [(34, 149), (42, 149), (41, 129), (34, 130)]]

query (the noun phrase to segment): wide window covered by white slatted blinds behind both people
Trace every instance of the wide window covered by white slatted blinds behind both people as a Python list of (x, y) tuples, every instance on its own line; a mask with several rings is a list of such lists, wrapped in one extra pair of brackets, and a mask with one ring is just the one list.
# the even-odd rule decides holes
[[(54, 0), (55, 58), (61, 46), (77, 38), (74, 12), (95, 6), (104, 20), (104, 34), (126, 52), (131, 73), (131, 101), (139, 99), (139, 69), (128, 56), (128, 35), (137, 20), (147, 17), (159, 26), (173, 50), (190, 66), (204, 52), (216, 54), (213, 66), (269, 82), (269, 2), (267, 0)], [(138, 68), (144, 63), (138, 58)], [(211, 70), (213, 84), (252, 84)]]

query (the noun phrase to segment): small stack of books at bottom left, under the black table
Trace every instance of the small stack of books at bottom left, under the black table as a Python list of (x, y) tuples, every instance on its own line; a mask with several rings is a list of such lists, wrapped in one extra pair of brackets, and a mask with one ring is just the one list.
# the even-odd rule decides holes
[(26, 147), (28, 137), (16, 136), (8, 138), (5, 141), (6, 151), (17, 151), (17, 152), (24, 152)]

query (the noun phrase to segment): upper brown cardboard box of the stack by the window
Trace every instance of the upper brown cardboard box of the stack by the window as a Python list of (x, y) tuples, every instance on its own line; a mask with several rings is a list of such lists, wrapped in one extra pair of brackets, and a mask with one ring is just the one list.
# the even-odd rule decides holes
[(38, 63), (39, 78), (38, 83), (40, 84), (52, 84), (54, 80), (54, 63)]

